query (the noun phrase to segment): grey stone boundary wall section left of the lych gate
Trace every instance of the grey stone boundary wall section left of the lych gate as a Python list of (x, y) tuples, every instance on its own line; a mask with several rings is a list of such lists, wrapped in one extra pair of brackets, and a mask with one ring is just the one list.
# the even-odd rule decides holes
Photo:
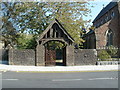
[(26, 65), (35, 66), (35, 50), (33, 49), (10, 49), (9, 50), (10, 65)]

